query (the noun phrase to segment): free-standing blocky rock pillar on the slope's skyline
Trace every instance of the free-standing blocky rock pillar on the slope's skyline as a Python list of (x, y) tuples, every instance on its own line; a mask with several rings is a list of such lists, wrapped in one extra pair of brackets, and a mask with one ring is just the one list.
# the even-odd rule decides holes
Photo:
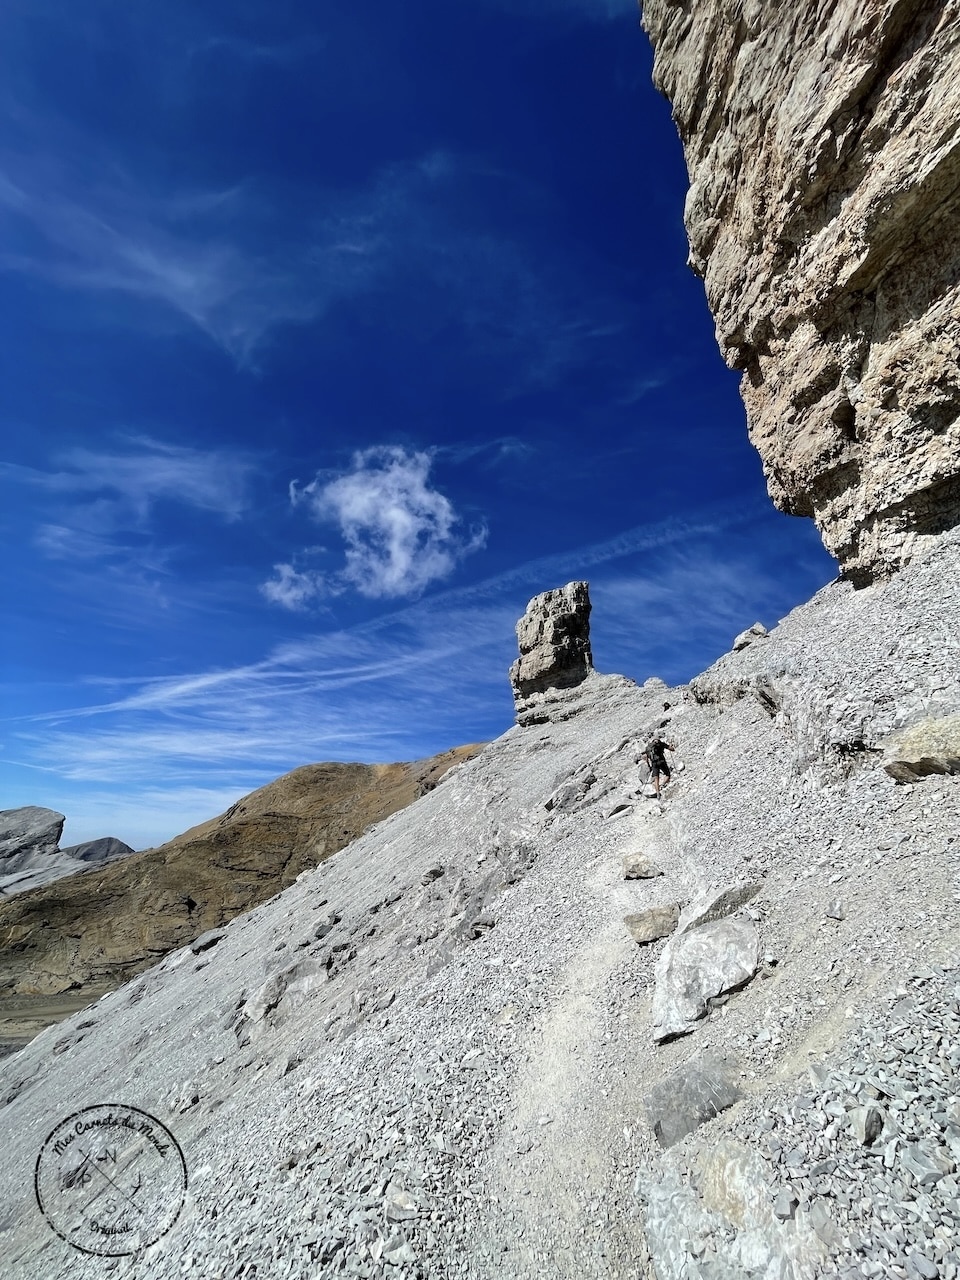
[(520, 658), (509, 668), (517, 722), (539, 723), (543, 698), (552, 690), (573, 689), (593, 671), (590, 652), (590, 589), (567, 582), (535, 595), (517, 622)]

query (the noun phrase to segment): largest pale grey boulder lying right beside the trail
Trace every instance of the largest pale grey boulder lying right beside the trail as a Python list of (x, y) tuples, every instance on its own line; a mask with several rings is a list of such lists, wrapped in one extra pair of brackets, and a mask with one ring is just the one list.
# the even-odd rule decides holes
[(760, 938), (750, 920), (713, 920), (675, 934), (657, 963), (653, 1038), (686, 1036), (707, 1012), (707, 1001), (741, 987), (756, 973)]

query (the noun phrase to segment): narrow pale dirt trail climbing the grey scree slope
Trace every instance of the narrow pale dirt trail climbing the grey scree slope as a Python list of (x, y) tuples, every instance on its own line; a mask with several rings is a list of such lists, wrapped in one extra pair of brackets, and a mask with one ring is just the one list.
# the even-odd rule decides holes
[[(663, 842), (654, 812), (634, 814), (626, 840), (611, 832), (622, 851), (649, 847), (654, 835)], [(611, 1007), (617, 970), (634, 960), (623, 915), (637, 906), (636, 884), (623, 882), (621, 854), (608, 849), (582, 869), (580, 890), (582, 945), (536, 1027), (489, 1157), (490, 1277), (507, 1268), (517, 1280), (567, 1276), (564, 1254), (576, 1257), (582, 1277), (652, 1274), (641, 1261), (639, 1213), (623, 1212), (636, 1164), (636, 1044), (634, 1028)]]

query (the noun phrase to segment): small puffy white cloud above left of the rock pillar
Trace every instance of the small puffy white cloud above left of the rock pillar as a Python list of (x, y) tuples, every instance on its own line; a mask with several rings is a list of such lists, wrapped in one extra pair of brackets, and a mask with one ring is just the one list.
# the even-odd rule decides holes
[(346, 544), (346, 563), (334, 576), (274, 566), (261, 586), (276, 603), (302, 608), (321, 591), (353, 588), (370, 599), (420, 595), (449, 577), (458, 561), (486, 541), (485, 526), (463, 535), (451, 500), (429, 484), (431, 456), (397, 445), (376, 445), (353, 456), (344, 475), (317, 475), (291, 485), (291, 500), (314, 520), (334, 524)]

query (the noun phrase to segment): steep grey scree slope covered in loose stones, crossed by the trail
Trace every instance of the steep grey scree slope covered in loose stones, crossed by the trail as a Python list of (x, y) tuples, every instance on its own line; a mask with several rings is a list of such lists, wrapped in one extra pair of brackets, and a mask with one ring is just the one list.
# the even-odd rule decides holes
[[(954, 1275), (960, 780), (900, 785), (882, 753), (960, 710), (957, 616), (946, 535), (689, 689), (590, 676), (210, 950), (44, 1032), (0, 1064), (8, 1274), (102, 1274), (29, 1180), (58, 1120), (109, 1101), (184, 1152), (183, 1212), (136, 1263), (159, 1280), (805, 1280), (910, 1252)], [(635, 762), (663, 718), (686, 767), (660, 812)], [(625, 879), (634, 852), (663, 874)], [(758, 969), (658, 1042), (676, 943), (623, 916), (672, 902), (755, 931)], [(914, 1060), (922, 1087), (895, 1084)], [(698, 1126), (723, 1071), (732, 1105)]]

